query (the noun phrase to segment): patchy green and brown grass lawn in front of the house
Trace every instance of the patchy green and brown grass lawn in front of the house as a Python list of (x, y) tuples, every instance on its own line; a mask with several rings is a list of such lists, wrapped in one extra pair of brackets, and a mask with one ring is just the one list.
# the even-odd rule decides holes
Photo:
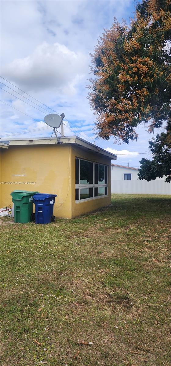
[(1, 365), (170, 365), (168, 196), (112, 195), (48, 225), (2, 218), (0, 246)]

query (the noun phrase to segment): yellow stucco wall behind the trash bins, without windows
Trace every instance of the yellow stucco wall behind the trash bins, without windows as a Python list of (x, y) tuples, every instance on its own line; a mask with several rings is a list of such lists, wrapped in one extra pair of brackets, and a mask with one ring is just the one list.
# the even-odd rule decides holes
[[(2, 152), (1, 181), (36, 184), (1, 185), (1, 207), (9, 205), (13, 190), (57, 194), (54, 214), (71, 218), (71, 146), (9, 146)], [(14, 176), (25, 174), (25, 176)]]

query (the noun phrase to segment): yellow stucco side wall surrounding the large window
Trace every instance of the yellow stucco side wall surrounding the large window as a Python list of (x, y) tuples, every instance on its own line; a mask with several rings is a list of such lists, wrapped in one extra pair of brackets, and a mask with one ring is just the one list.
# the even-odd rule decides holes
[[(71, 164), (72, 164), (72, 218), (82, 215), (87, 212), (94, 211), (98, 208), (108, 206), (111, 203), (111, 160), (106, 157), (101, 157), (97, 154), (85, 152), (79, 147), (71, 147)], [(103, 198), (95, 198), (90, 201), (75, 203), (75, 157), (83, 158), (93, 161), (95, 163), (101, 163), (108, 165), (108, 196)]]

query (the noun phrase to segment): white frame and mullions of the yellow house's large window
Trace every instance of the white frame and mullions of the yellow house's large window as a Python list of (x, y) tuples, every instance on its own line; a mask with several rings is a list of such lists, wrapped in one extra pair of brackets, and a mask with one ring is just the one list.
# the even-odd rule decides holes
[[(78, 189), (78, 200), (75, 200), (75, 203), (81, 203), (81, 202), (85, 202), (85, 201), (92, 201), (93, 199), (99, 199), (99, 198), (104, 198), (104, 197), (108, 197), (108, 165), (107, 164), (101, 164), (101, 163), (96, 163), (94, 161), (91, 160), (86, 160), (86, 159), (82, 159), (79, 157), (75, 157), (75, 160), (78, 159), (79, 160), (79, 183), (75, 184), (75, 189)], [(93, 183), (88, 183), (88, 184), (80, 184), (80, 160), (84, 160), (84, 161), (88, 161), (88, 163), (93, 163)], [(107, 167), (107, 183), (103, 183), (103, 184), (99, 184), (99, 183), (94, 183), (94, 164), (100, 164), (100, 165), (104, 165), (104, 167)], [(76, 165), (76, 164), (75, 164)], [(105, 178), (105, 177), (104, 177)], [(97, 169), (97, 180), (98, 180), (98, 169)], [(98, 188), (98, 187), (107, 187), (107, 194), (101, 195), (101, 196), (94, 196), (94, 188)], [(90, 198), (85, 198), (85, 199), (80, 199), (80, 189), (81, 188), (93, 188), (93, 197)], [(104, 188), (105, 189), (105, 188)], [(97, 190), (98, 193), (98, 190)]]

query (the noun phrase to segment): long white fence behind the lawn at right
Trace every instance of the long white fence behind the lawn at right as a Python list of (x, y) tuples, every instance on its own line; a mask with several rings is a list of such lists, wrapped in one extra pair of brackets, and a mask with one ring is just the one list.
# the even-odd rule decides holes
[(170, 195), (171, 185), (164, 180), (111, 180), (111, 193)]

